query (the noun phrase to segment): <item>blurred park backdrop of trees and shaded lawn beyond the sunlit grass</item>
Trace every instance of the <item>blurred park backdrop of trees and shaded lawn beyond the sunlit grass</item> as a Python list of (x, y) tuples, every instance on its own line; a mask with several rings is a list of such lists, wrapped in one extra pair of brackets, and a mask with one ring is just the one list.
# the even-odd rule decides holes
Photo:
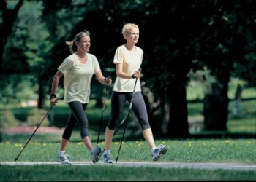
[[(155, 138), (255, 138), (256, 1), (1, 0), (0, 10), (0, 141), (10, 139), (8, 128), (34, 127), (45, 116), (53, 76), (70, 55), (65, 41), (79, 31), (91, 33), (90, 53), (114, 81), (125, 23), (140, 28), (141, 82)], [(105, 89), (94, 76), (86, 114), (95, 135)], [(57, 95), (42, 127), (67, 122), (62, 82)], [(132, 113), (127, 137), (136, 136), (143, 137)]]

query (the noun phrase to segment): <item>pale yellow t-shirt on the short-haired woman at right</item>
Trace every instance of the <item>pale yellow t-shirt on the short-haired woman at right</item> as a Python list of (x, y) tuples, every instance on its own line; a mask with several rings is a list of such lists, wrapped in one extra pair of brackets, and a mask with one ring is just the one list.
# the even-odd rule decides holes
[[(135, 47), (135, 52), (127, 50), (125, 45), (121, 45), (116, 49), (113, 63), (123, 64), (123, 72), (133, 74), (138, 71), (143, 60), (143, 50)], [(113, 91), (116, 92), (133, 92), (136, 79), (121, 79), (116, 77)], [(135, 92), (141, 91), (140, 79), (137, 80)]]

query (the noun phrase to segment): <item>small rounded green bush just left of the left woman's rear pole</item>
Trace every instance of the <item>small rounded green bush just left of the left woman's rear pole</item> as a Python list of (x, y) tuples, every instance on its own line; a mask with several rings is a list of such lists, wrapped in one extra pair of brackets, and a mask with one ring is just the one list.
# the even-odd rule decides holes
[[(47, 111), (45, 109), (33, 108), (29, 112), (29, 116), (26, 120), (26, 124), (28, 126), (35, 127), (42, 121), (42, 119), (45, 117), (46, 114), (47, 114)], [(49, 126), (49, 125), (50, 125), (50, 121), (46, 116), (40, 126)]]

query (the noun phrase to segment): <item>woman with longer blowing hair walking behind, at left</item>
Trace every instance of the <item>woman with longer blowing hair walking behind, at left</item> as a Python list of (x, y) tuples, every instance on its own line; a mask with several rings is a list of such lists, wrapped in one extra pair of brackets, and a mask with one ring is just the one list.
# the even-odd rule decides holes
[(55, 106), (57, 101), (56, 91), (59, 80), (64, 76), (64, 103), (69, 105), (71, 110), (67, 125), (64, 129), (61, 141), (61, 148), (57, 154), (57, 162), (62, 165), (69, 165), (66, 149), (76, 124), (80, 124), (80, 136), (86, 148), (91, 154), (92, 162), (98, 162), (101, 149), (99, 146), (91, 145), (91, 138), (88, 131), (88, 119), (85, 114), (86, 106), (89, 103), (91, 94), (91, 78), (93, 74), (102, 84), (111, 84), (111, 79), (102, 75), (97, 58), (89, 53), (91, 39), (89, 31), (83, 31), (75, 36), (73, 41), (67, 41), (72, 55), (64, 59), (56, 72), (50, 94), (50, 106)]

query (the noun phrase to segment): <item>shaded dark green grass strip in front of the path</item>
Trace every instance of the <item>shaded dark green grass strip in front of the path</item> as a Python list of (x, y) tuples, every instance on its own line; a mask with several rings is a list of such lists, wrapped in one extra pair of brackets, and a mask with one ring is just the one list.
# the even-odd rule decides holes
[[(115, 166), (1, 166), (0, 181), (250, 181), (255, 171)], [(15, 173), (13, 173), (15, 172)]]

